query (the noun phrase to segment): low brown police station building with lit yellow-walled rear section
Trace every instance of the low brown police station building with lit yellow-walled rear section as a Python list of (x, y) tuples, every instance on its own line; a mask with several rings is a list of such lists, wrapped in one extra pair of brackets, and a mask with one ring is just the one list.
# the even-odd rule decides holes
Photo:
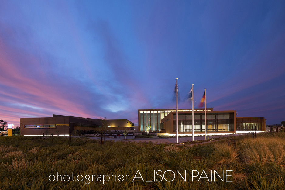
[[(133, 130), (134, 123), (127, 119), (107, 119), (107, 129)], [(99, 130), (101, 119), (53, 115), (53, 117), (20, 118), (21, 135), (68, 135), (74, 130)]]

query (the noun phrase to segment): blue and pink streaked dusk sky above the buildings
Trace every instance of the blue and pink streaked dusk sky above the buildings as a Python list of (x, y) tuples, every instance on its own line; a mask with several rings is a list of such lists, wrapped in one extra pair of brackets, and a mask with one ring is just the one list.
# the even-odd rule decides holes
[[(0, 1), (0, 120), (197, 108), (285, 120), (285, 1)], [(196, 105), (196, 106), (195, 106)], [(178, 108), (192, 108), (181, 101)]]

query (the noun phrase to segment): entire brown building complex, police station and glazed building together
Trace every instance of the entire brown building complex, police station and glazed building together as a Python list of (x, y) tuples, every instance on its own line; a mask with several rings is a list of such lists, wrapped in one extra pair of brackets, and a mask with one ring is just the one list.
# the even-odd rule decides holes
[[(107, 130), (134, 130), (144, 132), (151, 126), (151, 132), (176, 134), (176, 109), (139, 109), (139, 126), (127, 119), (106, 120)], [(252, 131), (265, 131), (264, 117), (236, 117), (236, 111), (214, 111), (207, 109), (208, 134), (232, 134)], [(20, 118), (21, 135), (68, 135), (74, 131), (94, 130), (102, 127), (101, 119), (82, 118), (74, 116), (53, 115), (43, 118)], [(205, 110), (194, 109), (194, 124), (192, 127), (192, 110), (178, 109), (178, 134), (195, 135), (205, 133)]]

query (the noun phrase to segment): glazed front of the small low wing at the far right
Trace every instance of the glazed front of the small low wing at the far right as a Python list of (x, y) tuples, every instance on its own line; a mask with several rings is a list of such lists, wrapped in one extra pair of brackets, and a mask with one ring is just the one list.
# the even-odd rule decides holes
[(236, 118), (237, 131), (252, 131), (252, 128), (255, 129), (255, 127), (257, 131), (260, 131), (260, 124), (261, 124), (260, 117)]

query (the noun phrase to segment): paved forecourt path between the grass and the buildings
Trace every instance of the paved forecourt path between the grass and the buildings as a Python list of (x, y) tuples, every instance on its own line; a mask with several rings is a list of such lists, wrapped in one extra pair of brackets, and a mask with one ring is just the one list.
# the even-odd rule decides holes
[[(219, 138), (219, 137), (228, 137), (228, 136), (239, 136), (242, 134), (231, 134), (231, 135), (214, 135), (214, 136), (207, 136), (207, 139), (211, 138)], [(74, 137), (88, 137), (94, 140), (101, 140), (101, 137), (91, 137), (91, 136), (73, 136)], [(135, 139), (135, 136), (127, 136), (127, 140), (124, 140), (124, 136), (120, 136), (119, 138), (113, 138), (113, 137), (106, 137), (106, 140), (112, 140), (112, 141), (122, 141), (122, 142), (146, 142), (146, 143), (176, 143), (176, 137), (175, 138), (142, 138), (142, 139)], [(104, 139), (103, 139), (104, 140)], [(205, 136), (194, 136), (194, 140), (205, 140)], [(178, 143), (186, 141), (192, 141), (192, 136), (188, 137), (178, 137)]]

